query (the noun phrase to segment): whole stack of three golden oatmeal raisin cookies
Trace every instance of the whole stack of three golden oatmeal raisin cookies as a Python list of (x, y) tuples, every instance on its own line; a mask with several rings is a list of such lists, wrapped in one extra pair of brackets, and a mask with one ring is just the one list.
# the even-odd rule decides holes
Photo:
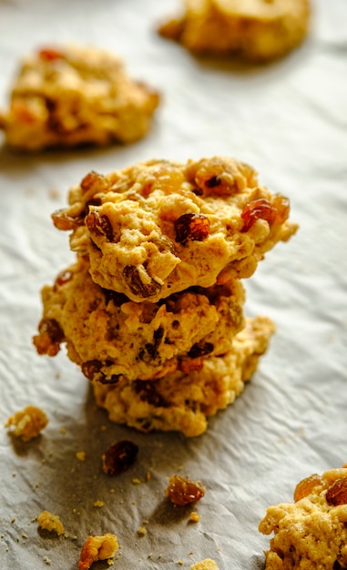
[(52, 216), (77, 260), (42, 290), (36, 350), (66, 343), (114, 422), (203, 433), (268, 347), (241, 280), (296, 231), (289, 211), (232, 158), (89, 172)]

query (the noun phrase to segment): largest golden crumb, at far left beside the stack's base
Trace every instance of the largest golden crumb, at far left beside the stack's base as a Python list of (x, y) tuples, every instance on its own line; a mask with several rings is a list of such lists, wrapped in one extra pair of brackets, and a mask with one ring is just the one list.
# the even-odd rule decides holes
[(29, 442), (39, 435), (47, 423), (46, 413), (36, 406), (29, 405), (11, 415), (5, 422), (5, 427), (13, 427), (15, 437), (20, 437), (23, 442)]

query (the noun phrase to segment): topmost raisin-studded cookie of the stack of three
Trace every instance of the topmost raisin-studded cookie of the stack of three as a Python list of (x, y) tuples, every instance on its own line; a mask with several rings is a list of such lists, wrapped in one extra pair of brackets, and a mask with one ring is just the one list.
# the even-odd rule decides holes
[(56, 228), (73, 230), (71, 249), (89, 257), (98, 285), (136, 302), (250, 277), (297, 229), (289, 200), (232, 158), (90, 172), (69, 203), (53, 214)]

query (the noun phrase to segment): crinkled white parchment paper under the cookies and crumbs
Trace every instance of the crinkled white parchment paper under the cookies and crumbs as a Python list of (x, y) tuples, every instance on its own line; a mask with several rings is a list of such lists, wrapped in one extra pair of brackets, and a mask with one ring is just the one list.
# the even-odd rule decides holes
[[(312, 7), (300, 49), (244, 67), (195, 59), (156, 34), (179, 0), (0, 2), (3, 106), (21, 56), (71, 41), (111, 49), (162, 94), (153, 128), (137, 144), (36, 157), (0, 151), (0, 422), (29, 403), (49, 417), (26, 444), (0, 429), (2, 569), (72, 570), (87, 534), (105, 532), (121, 545), (118, 570), (189, 568), (205, 557), (219, 570), (261, 569), (266, 508), (291, 501), (303, 477), (347, 462), (347, 3)], [(262, 184), (291, 198), (291, 219), (301, 225), (245, 283), (247, 314), (269, 315), (278, 330), (259, 371), (207, 433), (144, 435), (108, 422), (64, 351), (49, 359), (32, 345), (39, 290), (73, 259), (50, 214), (91, 169), (214, 155), (257, 168)], [(138, 462), (111, 478), (100, 457), (120, 439), (138, 443)], [(173, 473), (206, 485), (197, 524), (164, 497)], [(38, 533), (43, 509), (60, 516), (68, 536)]]

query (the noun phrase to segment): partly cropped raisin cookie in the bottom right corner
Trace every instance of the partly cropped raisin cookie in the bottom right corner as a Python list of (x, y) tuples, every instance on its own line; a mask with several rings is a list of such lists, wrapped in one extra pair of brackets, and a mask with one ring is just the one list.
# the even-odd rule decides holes
[(270, 506), (259, 529), (274, 533), (268, 570), (347, 568), (347, 468), (298, 483), (294, 503)]

